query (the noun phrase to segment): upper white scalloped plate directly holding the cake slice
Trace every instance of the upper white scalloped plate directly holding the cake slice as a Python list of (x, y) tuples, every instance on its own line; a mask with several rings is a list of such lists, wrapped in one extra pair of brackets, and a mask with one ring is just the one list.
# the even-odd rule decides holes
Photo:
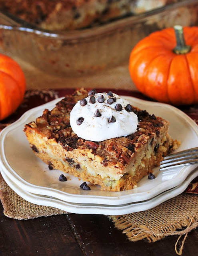
[[(181, 141), (179, 150), (198, 145), (198, 126), (179, 109), (158, 102), (124, 97), (134, 106), (169, 120), (170, 135)], [(23, 190), (72, 203), (128, 204), (148, 200), (182, 184), (196, 167), (181, 166), (163, 172), (160, 172), (159, 168), (154, 168), (156, 175), (154, 180), (148, 180), (148, 177), (144, 177), (138, 183), (137, 188), (121, 192), (102, 191), (100, 186), (90, 186), (90, 191), (84, 191), (79, 188), (83, 180), (69, 174), (66, 174), (67, 182), (60, 182), (58, 177), (62, 172), (48, 170), (48, 166), (37, 158), (30, 149), (23, 132), (26, 123), (35, 120), (45, 108), (52, 109), (58, 100), (60, 99), (28, 110), (19, 120), (4, 128), (0, 133), (0, 168), (8, 177), (13, 174), (17, 178), (17, 185)]]

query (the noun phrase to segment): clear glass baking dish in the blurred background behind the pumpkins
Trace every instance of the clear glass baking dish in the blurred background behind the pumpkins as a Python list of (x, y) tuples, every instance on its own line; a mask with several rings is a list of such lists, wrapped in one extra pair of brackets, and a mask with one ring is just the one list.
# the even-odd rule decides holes
[(198, 24), (198, 0), (81, 30), (47, 31), (0, 12), (0, 52), (61, 76), (82, 76), (126, 65), (134, 45), (156, 30)]

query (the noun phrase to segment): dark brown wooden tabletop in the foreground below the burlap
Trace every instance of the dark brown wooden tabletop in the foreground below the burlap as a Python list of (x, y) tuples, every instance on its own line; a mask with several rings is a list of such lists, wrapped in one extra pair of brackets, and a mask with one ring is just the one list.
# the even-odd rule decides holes
[[(59, 96), (64, 95), (59, 91)], [(125, 93), (126, 94), (126, 93)], [(134, 96), (141, 95), (133, 94)], [(51, 100), (49, 98), (48, 100)], [(34, 96), (31, 107), (42, 103)], [(19, 109), (16, 116), (30, 106)], [(16, 119), (12, 115), (4, 122)], [(104, 215), (63, 214), (14, 220), (4, 216), (0, 204), (0, 255), (22, 256), (174, 256), (174, 246), (178, 236), (149, 243), (146, 240), (130, 242), (122, 231), (114, 228), (114, 223)], [(198, 252), (198, 230), (188, 234), (182, 256), (196, 256)]]

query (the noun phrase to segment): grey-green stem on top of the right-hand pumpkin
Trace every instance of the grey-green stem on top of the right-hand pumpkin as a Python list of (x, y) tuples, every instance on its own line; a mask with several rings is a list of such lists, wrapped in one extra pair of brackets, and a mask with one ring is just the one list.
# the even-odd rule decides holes
[(174, 30), (175, 30), (177, 45), (173, 49), (173, 52), (176, 54), (186, 54), (186, 53), (190, 52), (191, 46), (186, 45), (186, 42), (184, 40), (183, 27), (180, 25), (176, 25), (176, 26), (174, 26)]

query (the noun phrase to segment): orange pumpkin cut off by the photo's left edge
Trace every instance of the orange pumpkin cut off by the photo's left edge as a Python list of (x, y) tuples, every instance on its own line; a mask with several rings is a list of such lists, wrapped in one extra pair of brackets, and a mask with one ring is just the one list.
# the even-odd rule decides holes
[(0, 54), (0, 120), (18, 108), (24, 98), (26, 80), (18, 63)]

